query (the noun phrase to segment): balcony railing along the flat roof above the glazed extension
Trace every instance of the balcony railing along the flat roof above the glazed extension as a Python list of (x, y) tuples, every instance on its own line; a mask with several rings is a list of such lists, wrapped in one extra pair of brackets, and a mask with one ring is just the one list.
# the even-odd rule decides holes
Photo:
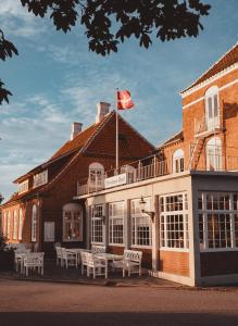
[[(216, 151), (214, 149), (211, 151), (211, 148), (212, 147), (210, 146), (209, 152), (206, 152), (208, 149), (205, 146), (202, 146), (200, 150), (198, 150), (198, 148), (196, 150), (196, 145), (187, 143), (183, 147), (184, 158), (179, 158), (179, 160), (183, 160), (180, 164), (175, 164), (173, 153), (171, 156), (167, 155), (167, 160), (163, 161), (160, 161), (160, 158), (150, 156), (141, 161), (133, 162), (129, 165), (122, 166), (118, 173), (115, 170), (108, 171), (103, 176), (100, 176), (99, 179), (95, 179), (93, 181), (89, 178), (82, 179), (77, 184), (77, 196), (110, 188), (110, 186), (105, 187), (104, 179), (125, 176), (125, 174), (126, 178), (122, 178), (123, 183), (115, 183), (112, 187), (129, 185), (170, 174), (176, 175), (179, 172), (186, 171), (238, 172), (238, 156), (224, 155), (224, 150), (216, 149)], [(226, 152), (236, 154), (238, 153), (238, 149), (226, 148)], [(178, 166), (180, 170), (177, 168)]]

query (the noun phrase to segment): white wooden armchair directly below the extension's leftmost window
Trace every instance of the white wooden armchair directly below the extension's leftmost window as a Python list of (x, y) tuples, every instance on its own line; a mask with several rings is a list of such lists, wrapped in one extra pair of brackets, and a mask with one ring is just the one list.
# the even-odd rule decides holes
[(85, 252), (85, 256), (87, 260), (87, 276), (89, 277), (92, 273), (93, 278), (96, 276), (104, 275), (108, 278), (108, 264), (107, 261), (96, 258), (92, 253)]

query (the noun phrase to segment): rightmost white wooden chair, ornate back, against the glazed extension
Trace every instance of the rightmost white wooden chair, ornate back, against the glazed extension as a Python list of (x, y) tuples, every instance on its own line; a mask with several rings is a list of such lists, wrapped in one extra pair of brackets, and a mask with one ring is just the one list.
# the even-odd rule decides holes
[(133, 273), (138, 273), (141, 276), (141, 261), (142, 261), (142, 252), (135, 250), (124, 250), (123, 260), (114, 261), (114, 268), (123, 269), (123, 277), (126, 276), (126, 271), (128, 272), (128, 276)]

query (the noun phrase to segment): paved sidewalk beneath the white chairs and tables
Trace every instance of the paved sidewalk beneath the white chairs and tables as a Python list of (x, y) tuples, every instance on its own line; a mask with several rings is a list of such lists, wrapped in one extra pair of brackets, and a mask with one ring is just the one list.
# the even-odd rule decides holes
[(143, 269), (142, 276), (133, 275), (130, 277), (122, 277), (121, 273), (110, 273), (109, 278), (97, 277), (96, 279), (87, 277), (86, 273), (80, 274), (80, 267), (62, 268), (57, 266), (55, 260), (45, 260), (45, 274), (38, 275), (37, 272), (30, 271), (29, 276), (26, 277), (14, 271), (0, 271), (0, 279), (12, 280), (30, 280), (30, 281), (50, 281), (50, 283), (70, 283), (80, 285), (95, 285), (95, 286), (111, 286), (111, 287), (161, 287), (161, 288), (187, 288), (180, 284), (173, 281), (154, 278), (148, 276), (147, 269)]

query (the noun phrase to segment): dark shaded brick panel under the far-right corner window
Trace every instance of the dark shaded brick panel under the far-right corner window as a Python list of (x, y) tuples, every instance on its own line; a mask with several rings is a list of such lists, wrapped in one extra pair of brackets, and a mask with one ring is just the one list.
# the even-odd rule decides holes
[(238, 251), (202, 252), (201, 276), (238, 274)]

